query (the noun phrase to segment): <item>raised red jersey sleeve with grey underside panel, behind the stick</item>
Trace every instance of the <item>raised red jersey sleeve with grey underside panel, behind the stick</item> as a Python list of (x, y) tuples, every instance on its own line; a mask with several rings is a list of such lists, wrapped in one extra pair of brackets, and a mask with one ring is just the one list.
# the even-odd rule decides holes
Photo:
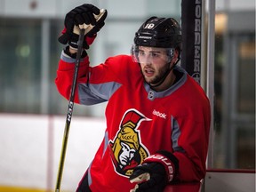
[[(75, 102), (93, 105), (107, 101), (124, 84), (119, 78), (122, 76), (122, 68), (119, 64), (125, 64), (125, 60), (121, 60), (121, 58), (108, 58), (104, 63), (95, 67), (89, 67), (88, 57), (81, 60), (77, 76)], [(55, 84), (60, 94), (66, 99), (69, 98), (73, 82), (75, 61), (68, 58), (65, 53), (61, 53)]]

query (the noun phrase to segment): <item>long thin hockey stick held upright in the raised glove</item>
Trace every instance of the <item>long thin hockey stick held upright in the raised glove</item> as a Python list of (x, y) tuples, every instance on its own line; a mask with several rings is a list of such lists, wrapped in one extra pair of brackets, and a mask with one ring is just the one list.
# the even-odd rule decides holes
[[(106, 10), (101, 9), (99, 15), (94, 15), (96, 21), (100, 20), (100, 18), (107, 13)], [(91, 29), (93, 28), (92, 25), (79, 25), (79, 38), (78, 38), (78, 48), (76, 52), (76, 66), (75, 66), (75, 72), (73, 76), (73, 83), (71, 87), (71, 93), (70, 93), (70, 99), (68, 102), (68, 113), (66, 118), (66, 124), (65, 124), (65, 131), (63, 135), (62, 140), (62, 148), (60, 152), (60, 163), (59, 163), (59, 171), (57, 175), (57, 181), (56, 181), (56, 187), (55, 192), (60, 192), (60, 184), (62, 180), (62, 173), (63, 173), (63, 167), (65, 162), (65, 156), (66, 156), (66, 150), (68, 145), (68, 133), (69, 133), (69, 127), (71, 123), (71, 117), (73, 114), (73, 108), (74, 108), (74, 100), (75, 100), (75, 91), (76, 91), (76, 81), (77, 81), (77, 75), (78, 75), (78, 69), (80, 65), (81, 55), (83, 52), (83, 43), (84, 43), (84, 35), (87, 34)], [(76, 29), (77, 30), (77, 29)]]

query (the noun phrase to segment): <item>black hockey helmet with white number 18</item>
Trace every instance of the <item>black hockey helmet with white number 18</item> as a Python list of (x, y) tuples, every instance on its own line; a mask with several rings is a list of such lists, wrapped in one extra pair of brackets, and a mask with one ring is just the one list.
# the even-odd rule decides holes
[(151, 17), (135, 33), (134, 44), (181, 49), (181, 30), (173, 18)]

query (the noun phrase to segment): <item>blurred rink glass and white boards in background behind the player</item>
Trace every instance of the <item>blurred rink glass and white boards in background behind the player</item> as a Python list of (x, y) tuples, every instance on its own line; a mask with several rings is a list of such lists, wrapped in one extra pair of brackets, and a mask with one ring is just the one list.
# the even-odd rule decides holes
[[(65, 14), (84, 3), (108, 10), (106, 25), (89, 50), (93, 66), (109, 56), (130, 54), (133, 36), (149, 16), (180, 21), (180, 2), (0, 0), (0, 191), (51, 191), (55, 186), (68, 109), (54, 84)], [(209, 168), (255, 170), (255, 1), (217, 0), (215, 9)], [(75, 191), (100, 145), (105, 107), (74, 108), (65, 191)]]

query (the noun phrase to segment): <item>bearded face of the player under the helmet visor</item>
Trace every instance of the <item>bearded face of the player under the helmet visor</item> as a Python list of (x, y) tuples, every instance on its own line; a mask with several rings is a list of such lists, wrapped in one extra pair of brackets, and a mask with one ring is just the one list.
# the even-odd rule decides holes
[(170, 67), (170, 57), (164, 48), (139, 46), (138, 60), (145, 81), (152, 85), (157, 84)]

